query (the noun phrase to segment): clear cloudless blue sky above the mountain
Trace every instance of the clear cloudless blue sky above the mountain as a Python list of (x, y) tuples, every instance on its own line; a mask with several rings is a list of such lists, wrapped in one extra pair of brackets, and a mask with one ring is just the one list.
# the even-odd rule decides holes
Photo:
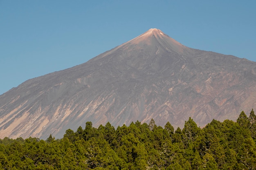
[(191, 48), (256, 61), (255, 0), (0, 0), (0, 94), (150, 28)]

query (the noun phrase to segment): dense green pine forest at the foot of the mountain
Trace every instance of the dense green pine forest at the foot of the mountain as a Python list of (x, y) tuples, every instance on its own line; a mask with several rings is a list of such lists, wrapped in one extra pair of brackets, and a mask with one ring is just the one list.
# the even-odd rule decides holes
[(256, 116), (242, 111), (236, 122), (213, 119), (204, 128), (193, 119), (184, 128), (132, 122), (86, 122), (62, 139), (0, 139), (3, 170), (256, 170)]

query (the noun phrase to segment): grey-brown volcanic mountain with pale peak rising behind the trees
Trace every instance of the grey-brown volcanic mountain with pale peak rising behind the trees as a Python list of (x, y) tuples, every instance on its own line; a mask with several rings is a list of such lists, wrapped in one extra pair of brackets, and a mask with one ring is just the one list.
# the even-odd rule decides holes
[(132, 121), (175, 128), (193, 118), (236, 120), (256, 105), (256, 62), (191, 49), (150, 29), (88, 62), (29, 79), (0, 95), (0, 138), (63, 137)]

